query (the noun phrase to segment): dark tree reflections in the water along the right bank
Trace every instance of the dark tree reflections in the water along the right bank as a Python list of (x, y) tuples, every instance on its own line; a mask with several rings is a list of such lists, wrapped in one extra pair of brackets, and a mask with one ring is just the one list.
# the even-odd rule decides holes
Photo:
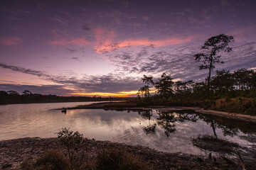
[[(203, 115), (194, 113), (193, 111), (156, 111), (158, 118), (151, 120), (153, 115), (152, 110), (142, 110), (137, 111), (142, 118), (149, 120), (149, 125), (144, 128), (146, 134), (154, 133), (156, 131), (156, 127), (164, 128), (165, 135), (169, 137), (171, 133), (176, 131), (175, 124), (176, 122), (183, 123), (184, 121), (196, 122), (197, 120), (203, 120), (213, 129), (213, 135), (215, 138), (218, 138), (216, 133), (216, 129), (220, 129), (223, 132), (224, 136), (235, 136), (238, 135), (239, 130), (242, 132), (247, 132), (248, 130), (252, 130), (252, 128), (246, 128), (245, 124), (241, 125), (240, 123), (236, 123), (235, 120), (230, 118), (220, 118), (218, 116), (213, 115)], [(153, 123), (152, 123), (153, 122)], [(255, 131), (255, 130), (252, 130)]]

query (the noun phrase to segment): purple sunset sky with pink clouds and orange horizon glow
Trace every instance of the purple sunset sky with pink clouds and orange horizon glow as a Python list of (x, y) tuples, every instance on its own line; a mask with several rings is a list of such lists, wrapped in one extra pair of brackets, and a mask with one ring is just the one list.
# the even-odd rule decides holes
[(234, 37), (216, 70), (256, 69), (256, 1), (1, 0), (0, 91), (136, 96), (143, 75), (204, 81), (193, 55)]

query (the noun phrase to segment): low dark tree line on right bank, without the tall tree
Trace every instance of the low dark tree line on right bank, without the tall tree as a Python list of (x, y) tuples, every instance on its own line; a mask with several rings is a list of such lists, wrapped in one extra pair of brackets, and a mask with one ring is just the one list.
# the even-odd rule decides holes
[(210, 82), (211, 98), (229, 97), (256, 97), (256, 72), (252, 69), (238, 69), (235, 72), (229, 70), (216, 71), (210, 81), (195, 82), (189, 81), (173, 81), (173, 78), (166, 73), (154, 82), (153, 77), (144, 75), (142, 78), (145, 86), (139, 89), (137, 96), (139, 98), (148, 98), (152, 96), (149, 91), (155, 89), (153, 96), (161, 96), (162, 98), (207, 98), (208, 82)]

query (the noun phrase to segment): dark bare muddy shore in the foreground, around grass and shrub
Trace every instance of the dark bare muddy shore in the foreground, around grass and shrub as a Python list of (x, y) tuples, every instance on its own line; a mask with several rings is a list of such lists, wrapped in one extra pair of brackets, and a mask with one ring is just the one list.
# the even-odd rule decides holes
[[(216, 157), (196, 156), (182, 153), (157, 152), (142, 146), (130, 146), (115, 142), (87, 140), (91, 145), (90, 159), (96, 159), (102, 149), (124, 149), (132, 154), (140, 155), (152, 169), (256, 169), (252, 160), (227, 159), (224, 155)], [(84, 146), (85, 147), (85, 146)], [(0, 141), (0, 169), (18, 169), (24, 160), (35, 160), (49, 149), (62, 151), (58, 138), (27, 137), (16, 140)], [(244, 167), (242, 167), (244, 166)]]

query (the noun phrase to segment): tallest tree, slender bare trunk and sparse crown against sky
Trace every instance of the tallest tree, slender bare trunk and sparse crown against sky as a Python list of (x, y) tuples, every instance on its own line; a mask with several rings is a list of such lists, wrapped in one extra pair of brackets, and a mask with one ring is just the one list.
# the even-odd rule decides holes
[(220, 61), (220, 55), (216, 55), (220, 51), (230, 52), (231, 47), (228, 47), (228, 43), (233, 40), (233, 36), (228, 36), (225, 34), (220, 34), (209, 38), (206, 40), (204, 45), (201, 47), (202, 50), (210, 50), (208, 53), (200, 52), (193, 57), (195, 57), (196, 62), (203, 62), (199, 69), (209, 69), (208, 74), (208, 93), (207, 97), (210, 98), (210, 74), (215, 68), (215, 63), (223, 64), (224, 62)]

